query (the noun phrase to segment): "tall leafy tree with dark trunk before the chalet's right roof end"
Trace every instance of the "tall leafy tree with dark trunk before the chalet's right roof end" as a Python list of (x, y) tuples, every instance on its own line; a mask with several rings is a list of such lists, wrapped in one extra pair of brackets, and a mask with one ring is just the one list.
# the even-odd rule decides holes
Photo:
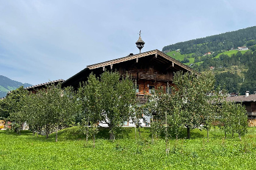
[(205, 113), (212, 107), (210, 98), (213, 95), (215, 79), (210, 74), (195, 75), (188, 72), (174, 74), (176, 100), (180, 103), (183, 122), (187, 127), (187, 138), (190, 128), (199, 127), (205, 122)]

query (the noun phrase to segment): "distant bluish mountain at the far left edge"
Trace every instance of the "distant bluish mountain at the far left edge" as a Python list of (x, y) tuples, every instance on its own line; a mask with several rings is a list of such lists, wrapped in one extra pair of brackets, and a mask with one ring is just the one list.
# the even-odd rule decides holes
[(0, 98), (5, 97), (7, 92), (9, 92), (10, 90), (15, 90), (20, 86), (29, 87), (32, 86), (32, 84), (23, 84), (18, 81), (11, 80), (10, 78), (4, 77), (3, 75), (0, 75)]

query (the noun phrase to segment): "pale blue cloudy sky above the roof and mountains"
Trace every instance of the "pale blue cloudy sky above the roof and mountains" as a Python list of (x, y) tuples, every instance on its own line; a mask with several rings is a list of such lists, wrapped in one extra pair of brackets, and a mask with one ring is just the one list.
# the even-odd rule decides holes
[(32, 85), (90, 64), (256, 25), (256, 1), (0, 0), (0, 75)]

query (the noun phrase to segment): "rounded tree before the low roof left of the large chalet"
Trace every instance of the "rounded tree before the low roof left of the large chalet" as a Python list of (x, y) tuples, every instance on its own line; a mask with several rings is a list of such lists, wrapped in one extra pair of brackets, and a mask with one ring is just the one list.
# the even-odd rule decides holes
[[(76, 98), (73, 88), (61, 88), (61, 84), (51, 84), (46, 89), (38, 90), (38, 102), (41, 108), (41, 123), (45, 128), (46, 138), (52, 129), (55, 129), (55, 141), (60, 126), (68, 126), (73, 123), (76, 114)], [(37, 110), (39, 111), (39, 110)], [(38, 114), (38, 113), (37, 113)]]

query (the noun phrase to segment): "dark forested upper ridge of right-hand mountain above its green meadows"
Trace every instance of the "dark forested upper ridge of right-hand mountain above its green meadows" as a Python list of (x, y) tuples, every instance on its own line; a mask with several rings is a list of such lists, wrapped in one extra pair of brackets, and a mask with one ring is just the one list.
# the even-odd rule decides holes
[(256, 44), (256, 26), (240, 29), (205, 38), (191, 39), (190, 41), (177, 42), (163, 47), (163, 52), (180, 49), (181, 54), (196, 53), (199, 56), (207, 52), (216, 52), (241, 46), (253, 46)]

